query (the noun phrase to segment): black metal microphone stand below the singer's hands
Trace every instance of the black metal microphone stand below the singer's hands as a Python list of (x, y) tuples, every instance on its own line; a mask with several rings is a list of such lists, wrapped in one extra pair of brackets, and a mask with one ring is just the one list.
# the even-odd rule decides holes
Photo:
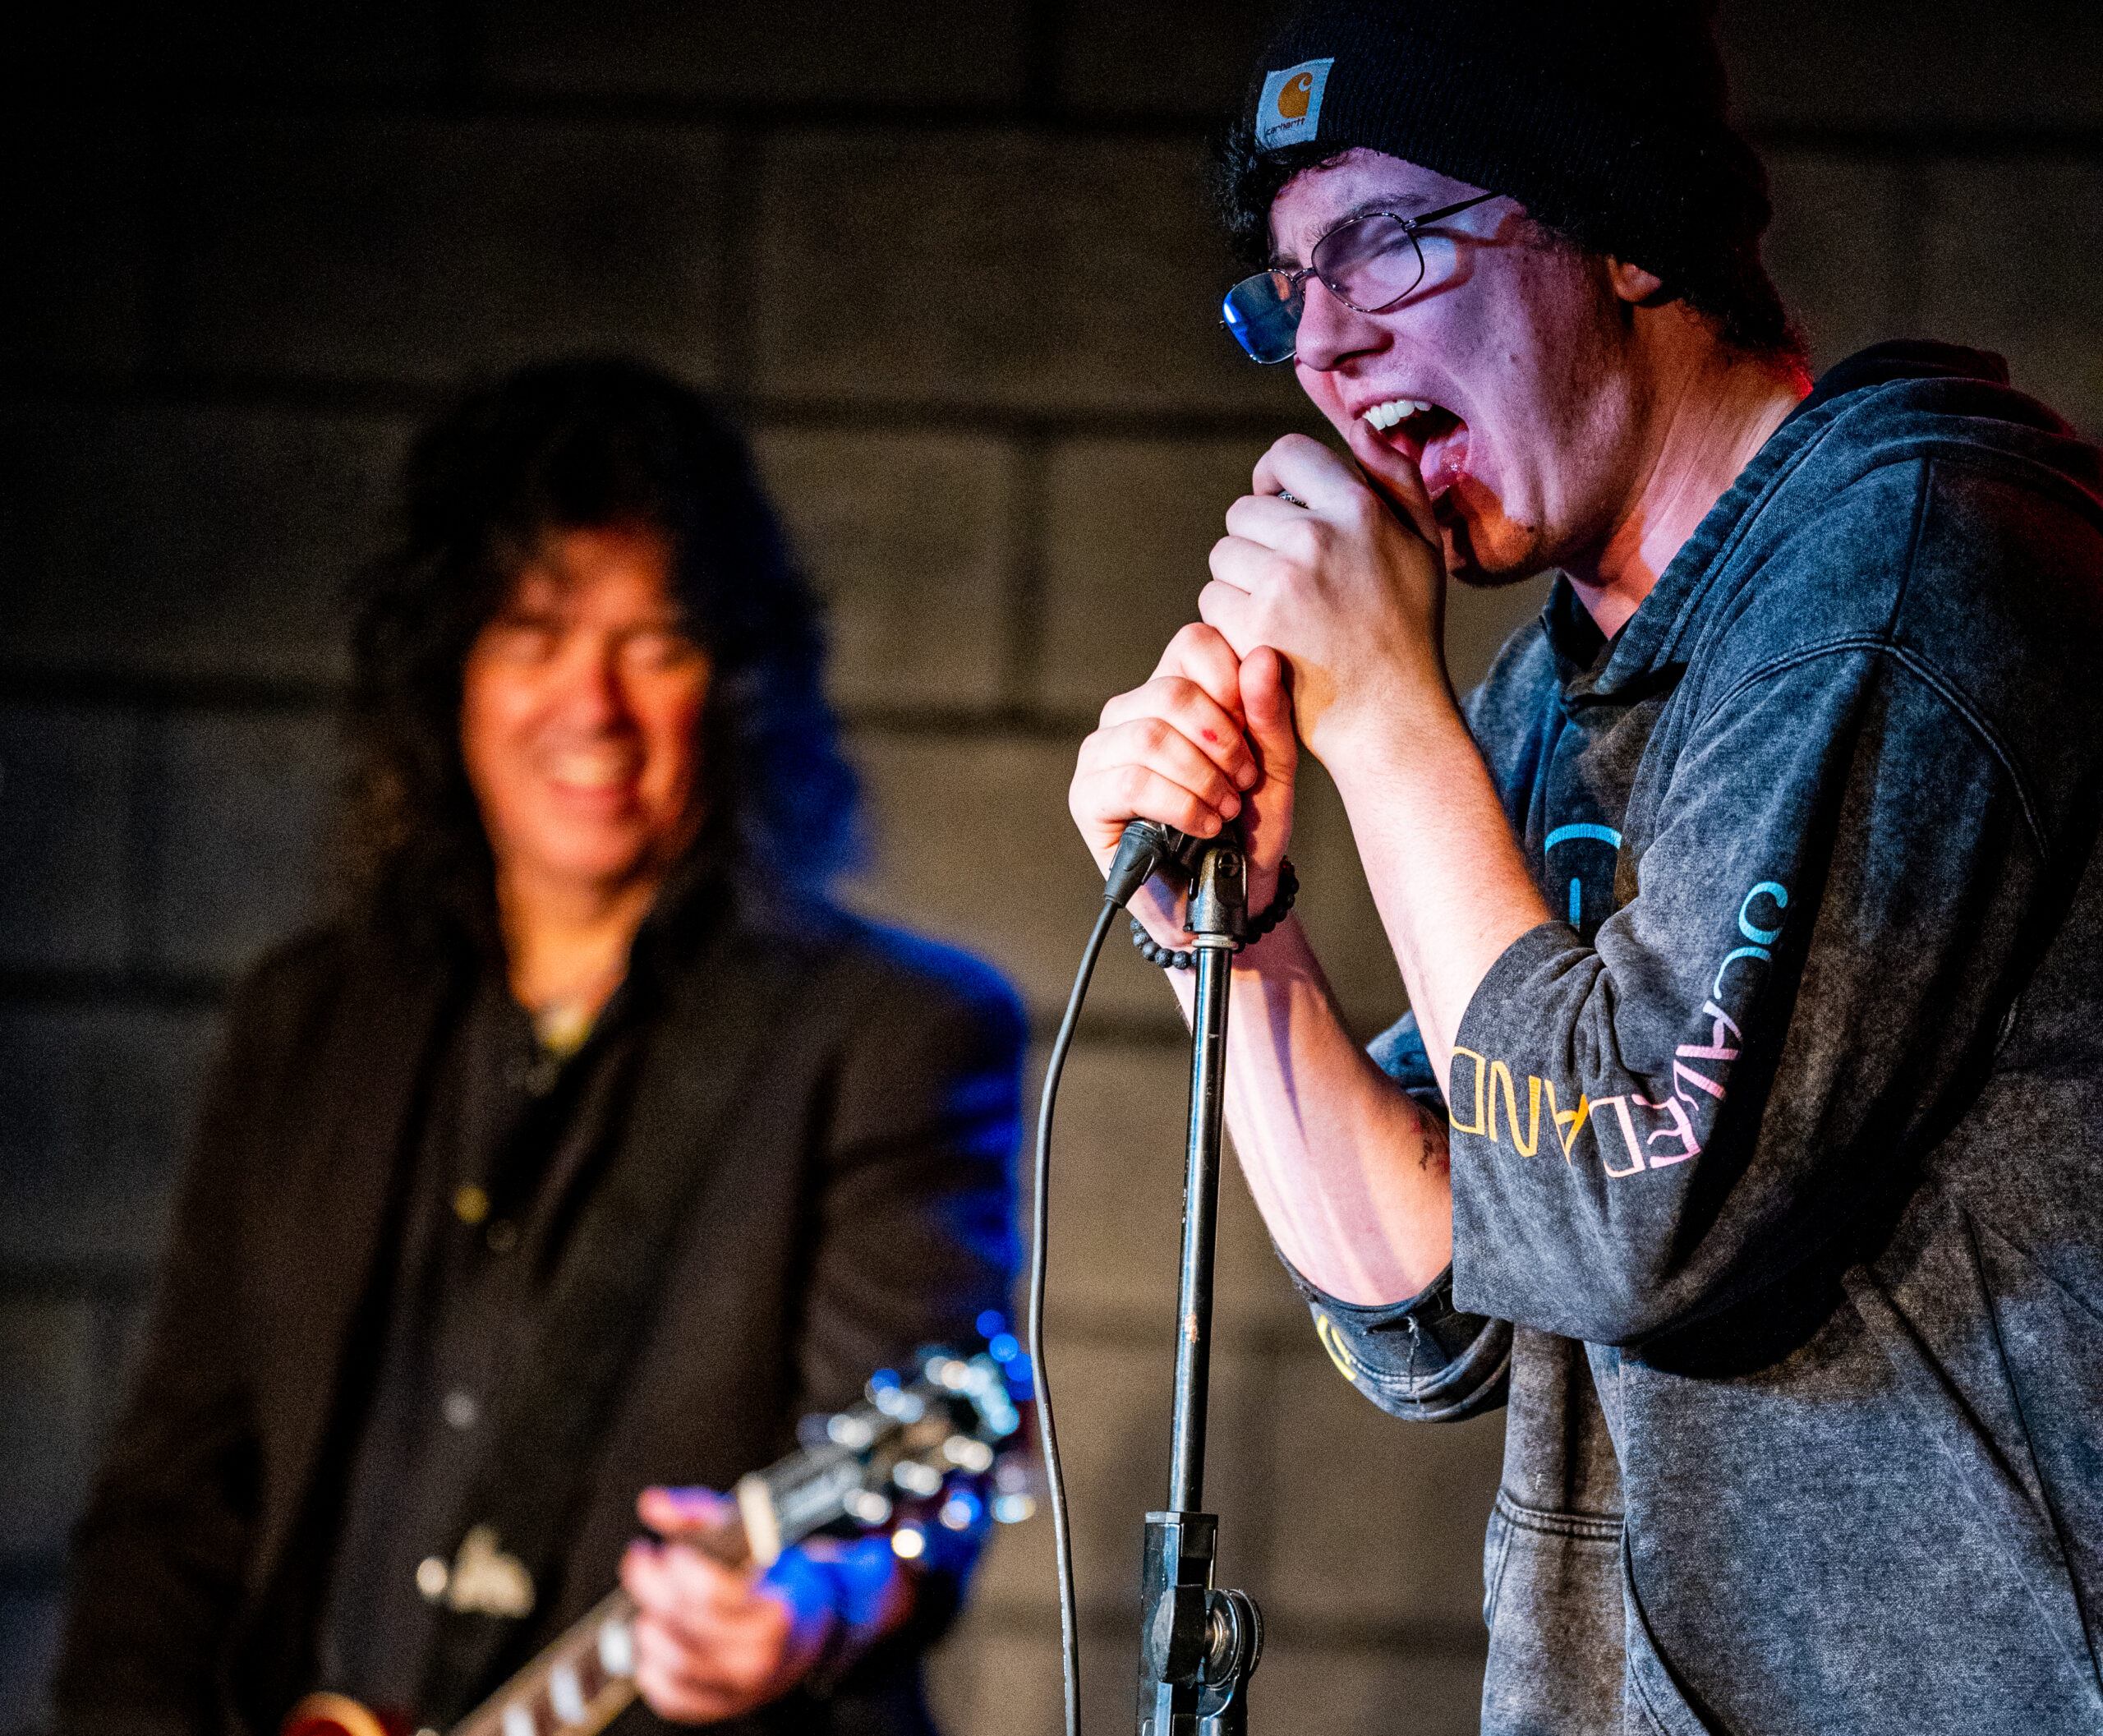
[[(1171, 835), (1176, 837), (1176, 835)], [(1232, 829), (1195, 846), (1186, 926), (1197, 936), (1190, 1016), (1190, 1138), (1178, 1286), (1169, 1511), (1146, 1515), (1140, 1568), (1140, 1736), (1245, 1736), (1247, 1685), (1264, 1618), (1245, 1591), (1211, 1584), (1220, 1519), (1205, 1500), (1205, 1393), (1211, 1372), (1211, 1254), (1226, 1107), (1226, 991), (1249, 934), (1249, 865)]]

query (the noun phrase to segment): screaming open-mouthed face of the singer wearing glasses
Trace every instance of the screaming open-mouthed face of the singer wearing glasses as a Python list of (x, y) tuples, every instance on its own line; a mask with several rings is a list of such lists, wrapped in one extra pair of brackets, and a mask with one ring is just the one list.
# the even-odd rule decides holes
[[(1272, 202), (1274, 263), (1306, 263), (1350, 217), (1411, 217), (1474, 191), (1348, 152)], [(1356, 314), (1308, 280), (1300, 385), (1333, 427), (1365, 419), (1420, 465), (1457, 579), (1510, 583), (1605, 547), (1647, 459), (1642, 372), (1613, 267), (1550, 244), (1512, 200), (1422, 240), (1424, 288), (1384, 314)]]

